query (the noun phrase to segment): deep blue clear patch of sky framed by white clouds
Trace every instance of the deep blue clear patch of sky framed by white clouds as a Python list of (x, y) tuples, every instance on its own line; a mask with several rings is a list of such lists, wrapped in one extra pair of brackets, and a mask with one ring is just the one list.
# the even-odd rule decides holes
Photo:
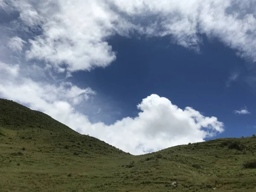
[[(106, 123), (135, 117), (138, 110), (134, 106), (155, 93), (180, 108), (191, 106), (206, 116), (217, 116), (224, 122), (225, 131), (216, 138), (251, 136), (256, 126), (255, 89), (246, 81), (246, 66), (252, 62), (216, 39), (204, 37), (200, 53), (170, 45), (169, 41), (170, 37), (113, 37), (109, 42), (113, 50), (118, 50), (116, 61), (105, 69), (78, 72), (73, 81), (85, 81), (116, 102), (122, 113), (110, 121), (105, 119)], [(239, 78), (229, 82), (234, 73)], [(245, 106), (251, 114), (234, 113)]]

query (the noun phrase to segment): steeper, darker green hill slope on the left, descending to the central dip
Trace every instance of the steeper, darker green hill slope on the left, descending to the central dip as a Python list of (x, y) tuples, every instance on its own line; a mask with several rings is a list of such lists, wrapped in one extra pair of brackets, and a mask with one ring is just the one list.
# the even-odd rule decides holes
[(77, 133), (44, 113), (6, 99), (0, 99), (0, 128), (9, 137), (8, 144), (30, 144), (34, 145), (34, 149), (44, 151), (61, 152), (68, 148), (85, 156), (113, 157), (125, 154), (94, 137)]

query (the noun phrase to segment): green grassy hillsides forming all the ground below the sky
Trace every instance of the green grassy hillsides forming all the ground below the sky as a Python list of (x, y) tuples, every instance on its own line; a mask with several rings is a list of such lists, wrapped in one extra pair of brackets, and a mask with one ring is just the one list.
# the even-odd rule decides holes
[(1, 192), (255, 192), (255, 153), (246, 137), (133, 156), (0, 99)]

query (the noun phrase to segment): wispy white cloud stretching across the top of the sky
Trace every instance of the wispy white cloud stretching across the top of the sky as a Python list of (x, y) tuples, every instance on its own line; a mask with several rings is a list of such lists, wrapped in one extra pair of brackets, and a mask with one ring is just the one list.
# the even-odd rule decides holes
[(39, 35), (29, 40), (27, 58), (49, 62), (60, 72), (108, 66), (116, 59), (108, 38), (134, 31), (148, 36), (172, 35), (172, 42), (196, 51), (202, 41), (199, 34), (205, 34), (256, 60), (253, 0), (11, 2), (24, 24), (40, 26)]

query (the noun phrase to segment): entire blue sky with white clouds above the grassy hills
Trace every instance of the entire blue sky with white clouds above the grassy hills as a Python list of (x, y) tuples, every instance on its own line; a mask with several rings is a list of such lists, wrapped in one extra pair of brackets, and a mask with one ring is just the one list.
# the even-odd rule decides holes
[(0, 0), (0, 98), (131, 154), (256, 133), (255, 0)]

